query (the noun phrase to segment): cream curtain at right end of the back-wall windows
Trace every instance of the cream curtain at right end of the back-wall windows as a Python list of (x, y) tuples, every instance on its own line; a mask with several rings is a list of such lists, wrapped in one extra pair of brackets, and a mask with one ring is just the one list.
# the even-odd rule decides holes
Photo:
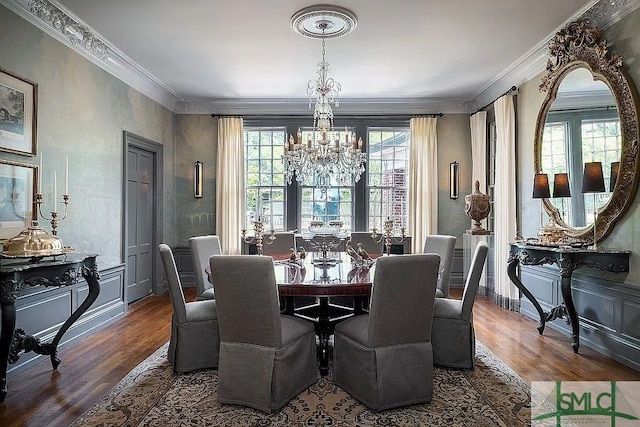
[(408, 234), (412, 253), (422, 253), (425, 237), (438, 232), (437, 121), (435, 117), (410, 121)]

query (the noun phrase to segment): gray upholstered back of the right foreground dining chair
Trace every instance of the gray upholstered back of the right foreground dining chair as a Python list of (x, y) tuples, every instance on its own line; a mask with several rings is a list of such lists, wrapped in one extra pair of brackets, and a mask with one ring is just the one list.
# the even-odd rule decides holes
[(369, 309), (369, 346), (431, 340), (439, 264), (436, 254), (377, 259)]

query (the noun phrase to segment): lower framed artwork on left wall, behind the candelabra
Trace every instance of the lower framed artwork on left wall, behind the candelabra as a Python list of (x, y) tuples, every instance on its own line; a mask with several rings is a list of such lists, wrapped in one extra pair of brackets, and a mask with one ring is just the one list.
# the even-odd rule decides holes
[(35, 219), (37, 166), (0, 160), (0, 240), (20, 234)]

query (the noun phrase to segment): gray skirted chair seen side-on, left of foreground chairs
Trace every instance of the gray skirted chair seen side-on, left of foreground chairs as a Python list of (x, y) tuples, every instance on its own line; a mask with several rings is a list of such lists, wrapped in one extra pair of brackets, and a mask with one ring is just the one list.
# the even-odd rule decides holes
[(178, 373), (218, 366), (220, 334), (214, 300), (185, 302), (171, 248), (160, 244), (160, 256), (173, 305), (167, 358)]

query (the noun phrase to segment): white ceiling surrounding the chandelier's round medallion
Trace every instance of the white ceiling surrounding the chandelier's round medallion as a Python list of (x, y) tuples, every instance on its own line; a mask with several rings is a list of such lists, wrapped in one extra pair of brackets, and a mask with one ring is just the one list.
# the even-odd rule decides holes
[[(500, 79), (543, 52), (593, 0), (58, 0), (182, 109), (225, 113), (239, 101), (307, 111), (321, 41), (290, 26), (303, 7), (333, 4), (356, 29), (327, 40), (330, 75), (348, 112), (473, 110), (512, 84)], [(539, 55), (540, 56), (540, 55)], [(536, 72), (541, 69), (535, 70)], [(502, 86), (502, 87), (501, 87)], [(351, 105), (349, 105), (351, 104)], [(371, 107), (377, 105), (377, 107)], [(179, 110), (180, 108), (178, 108)], [(273, 109), (271, 110), (273, 111)], [(423, 112), (439, 112), (423, 111)]]

